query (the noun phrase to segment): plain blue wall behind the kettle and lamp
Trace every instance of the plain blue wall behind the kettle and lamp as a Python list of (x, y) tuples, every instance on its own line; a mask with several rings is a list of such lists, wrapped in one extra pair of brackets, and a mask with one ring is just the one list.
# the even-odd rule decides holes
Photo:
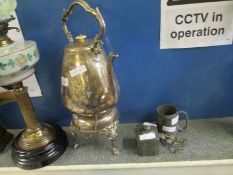
[[(63, 49), (62, 9), (71, 0), (21, 0), (17, 13), (25, 39), (41, 53), (36, 74), (43, 97), (33, 98), (40, 120), (68, 125), (71, 114), (60, 97)], [(159, 0), (89, 0), (107, 24), (105, 41), (119, 53), (115, 72), (121, 87), (121, 122), (154, 121), (155, 107), (176, 104), (191, 119), (233, 115), (233, 45), (160, 50)], [(92, 37), (95, 20), (79, 9), (70, 18), (74, 34)], [(24, 127), (15, 103), (0, 106), (0, 123)]]

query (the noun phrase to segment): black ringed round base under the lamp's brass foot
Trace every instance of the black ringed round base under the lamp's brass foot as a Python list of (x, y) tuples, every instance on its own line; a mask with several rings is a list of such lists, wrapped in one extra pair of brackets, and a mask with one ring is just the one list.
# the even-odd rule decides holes
[(19, 146), (21, 132), (12, 145), (12, 159), (19, 168), (36, 169), (44, 167), (57, 160), (66, 150), (68, 139), (60, 126), (53, 126), (55, 136), (47, 145), (31, 150), (23, 150)]

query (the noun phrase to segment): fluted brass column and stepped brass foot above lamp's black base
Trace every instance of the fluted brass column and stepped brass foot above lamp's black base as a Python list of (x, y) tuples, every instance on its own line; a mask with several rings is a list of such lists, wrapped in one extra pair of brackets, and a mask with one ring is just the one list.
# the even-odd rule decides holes
[(46, 146), (55, 136), (55, 130), (48, 124), (38, 122), (32, 102), (23, 84), (12, 85), (18, 106), (23, 114), (27, 129), (18, 137), (18, 146), (24, 150), (33, 150)]

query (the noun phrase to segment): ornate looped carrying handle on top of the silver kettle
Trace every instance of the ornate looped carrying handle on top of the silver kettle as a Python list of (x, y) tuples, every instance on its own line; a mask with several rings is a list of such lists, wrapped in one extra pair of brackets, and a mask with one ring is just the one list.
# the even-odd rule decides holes
[(98, 35), (95, 36), (95, 40), (96, 41), (99, 41), (102, 39), (104, 33), (105, 33), (105, 22), (104, 22), (104, 19), (99, 11), (98, 8), (96, 9), (93, 9), (89, 6), (88, 3), (86, 3), (84, 0), (78, 0), (78, 1), (75, 1), (73, 2), (72, 4), (70, 4), (70, 6), (68, 7), (68, 9), (64, 9), (63, 11), (63, 15), (62, 15), (62, 27), (63, 27), (63, 30), (68, 38), (68, 40), (70, 42), (74, 42), (74, 39), (72, 37), (72, 34), (69, 32), (68, 28), (67, 28), (67, 21), (68, 21), (68, 16), (70, 14), (72, 14), (74, 8), (78, 7), (78, 6), (81, 6), (83, 7), (86, 12), (88, 12), (89, 14), (93, 15), (96, 17), (96, 20), (99, 22), (100, 24), (100, 32)]

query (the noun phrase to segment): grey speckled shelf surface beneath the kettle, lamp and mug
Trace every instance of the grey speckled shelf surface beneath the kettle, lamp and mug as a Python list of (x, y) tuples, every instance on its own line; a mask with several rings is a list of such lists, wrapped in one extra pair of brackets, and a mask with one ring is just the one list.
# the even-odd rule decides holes
[[(64, 155), (51, 165), (98, 165), (233, 159), (233, 118), (231, 117), (192, 120), (189, 122), (188, 129), (179, 133), (179, 136), (188, 140), (184, 150), (178, 153), (170, 153), (165, 147), (160, 146), (160, 154), (151, 157), (141, 157), (137, 154), (136, 125), (138, 124), (119, 125), (118, 145), (120, 154), (117, 156), (111, 154), (110, 142), (105, 137), (98, 136), (92, 142), (80, 146), (77, 150), (71, 148), (72, 143), (70, 143)], [(10, 130), (15, 135), (20, 131)], [(66, 131), (68, 131), (67, 128)], [(0, 154), (0, 167), (15, 167), (11, 159), (10, 145)]]

